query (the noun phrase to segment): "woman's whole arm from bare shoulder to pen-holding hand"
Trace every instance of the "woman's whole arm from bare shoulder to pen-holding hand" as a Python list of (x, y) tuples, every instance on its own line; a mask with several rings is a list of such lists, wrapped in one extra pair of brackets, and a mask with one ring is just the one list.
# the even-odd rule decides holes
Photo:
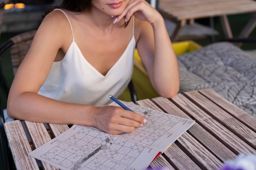
[(11, 85), (8, 116), (33, 122), (95, 126), (112, 134), (130, 132), (141, 126), (142, 116), (120, 107), (78, 105), (37, 94), (58, 51), (65, 53), (72, 42), (68, 25), (65, 15), (58, 11), (49, 13), (43, 20)]

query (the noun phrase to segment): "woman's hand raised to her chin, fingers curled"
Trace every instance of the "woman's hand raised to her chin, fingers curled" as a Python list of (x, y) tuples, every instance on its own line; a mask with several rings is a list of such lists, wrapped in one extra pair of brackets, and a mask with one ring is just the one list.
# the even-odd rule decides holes
[(159, 17), (162, 17), (162, 15), (145, 0), (130, 0), (124, 12), (117, 16), (116, 22), (123, 17), (125, 17), (125, 21), (128, 21), (132, 15), (150, 24), (154, 24)]

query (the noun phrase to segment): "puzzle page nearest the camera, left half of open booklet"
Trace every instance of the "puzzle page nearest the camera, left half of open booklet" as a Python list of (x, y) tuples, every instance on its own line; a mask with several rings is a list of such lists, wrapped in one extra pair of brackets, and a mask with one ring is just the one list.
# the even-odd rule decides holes
[(144, 170), (158, 153), (89, 126), (73, 125), (28, 155), (62, 170)]

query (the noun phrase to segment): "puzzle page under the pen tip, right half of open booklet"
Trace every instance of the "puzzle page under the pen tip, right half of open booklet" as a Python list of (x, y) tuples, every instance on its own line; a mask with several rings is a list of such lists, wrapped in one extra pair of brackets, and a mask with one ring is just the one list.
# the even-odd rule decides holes
[[(173, 116), (128, 102), (121, 102), (132, 111), (144, 116), (148, 125), (144, 124), (130, 133), (120, 134), (119, 136), (133, 142), (146, 144), (162, 153), (195, 124), (195, 120)], [(110, 105), (119, 106), (115, 102)]]

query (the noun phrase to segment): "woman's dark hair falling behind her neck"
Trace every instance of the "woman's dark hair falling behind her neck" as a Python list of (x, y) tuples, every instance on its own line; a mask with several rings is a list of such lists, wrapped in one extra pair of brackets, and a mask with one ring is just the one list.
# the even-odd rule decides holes
[[(92, 0), (63, 0), (61, 5), (53, 5), (50, 7), (43, 17), (45, 17), (48, 13), (52, 12), (56, 8), (63, 8), (67, 9), (69, 11), (75, 11), (75, 12), (82, 12), (85, 10), (90, 11), (92, 5)], [(130, 20), (129, 20), (130, 21)], [(124, 23), (124, 26), (126, 27), (128, 25), (128, 22)]]

